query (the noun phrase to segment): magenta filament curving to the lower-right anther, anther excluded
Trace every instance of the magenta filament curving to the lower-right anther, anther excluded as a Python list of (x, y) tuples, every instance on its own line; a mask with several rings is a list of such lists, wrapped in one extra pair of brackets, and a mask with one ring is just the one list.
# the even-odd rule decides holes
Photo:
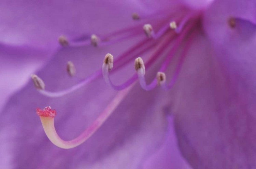
[(182, 68), (182, 64), (183, 64), (183, 62), (184, 62), (184, 59), (185, 59), (185, 57), (186, 57), (186, 55), (187, 55), (187, 52), (188, 52), (190, 46), (191, 46), (191, 43), (192, 43), (192, 41), (193, 41), (193, 39), (194, 39), (194, 37), (195, 37), (195, 34), (196, 34), (196, 32), (194, 31), (194, 32), (190, 35), (188, 41), (186, 42), (186, 45), (185, 45), (184, 50), (183, 50), (183, 52), (182, 52), (182, 54), (181, 54), (179, 63), (178, 63), (178, 65), (177, 65), (176, 69), (175, 69), (175, 72), (174, 72), (174, 75), (173, 75), (173, 77), (172, 77), (172, 79), (171, 79), (170, 84), (167, 85), (166, 82), (163, 83), (163, 84), (161, 84), (161, 87), (162, 87), (163, 89), (166, 89), (166, 90), (171, 89), (172, 86), (173, 86), (173, 84), (174, 84), (175, 81), (177, 80), (177, 77), (179, 76), (180, 71), (181, 71), (181, 68)]

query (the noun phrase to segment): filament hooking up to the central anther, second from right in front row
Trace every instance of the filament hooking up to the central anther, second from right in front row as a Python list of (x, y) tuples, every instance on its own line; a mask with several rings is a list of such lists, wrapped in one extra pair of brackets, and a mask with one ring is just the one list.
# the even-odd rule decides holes
[[(177, 38), (177, 41), (175, 41), (175, 44), (174, 44), (173, 48), (171, 49), (168, 57), (165, 59), (161, 68), (159, 69), (160, 72), (166, 71), (169, 63), (172, 60), (173, 55), (175, 54), (176, 50), (179, 48), (182, 40), (185, 38), (185, 36), (188, 34), (188, 32), (191, 30), (191, 28), (194, 25), (195, 24), (190, 24), (184, 29), (184, 31), (182, 31), (181, 35)], [(139, 82), (140, 82), (140, 85), (141, 85), (142, 89), (144, 89), (146, 91), (149, 91), (149, 90), (154, 89), (157, 86), (157, 79), (156, 78), (154, 78), (154, 80), (150, 84), (147, 85), (146, 81), (145, 81), (145, 75), (140, 71), (138, 71), (137, 74), (138, 74)]]

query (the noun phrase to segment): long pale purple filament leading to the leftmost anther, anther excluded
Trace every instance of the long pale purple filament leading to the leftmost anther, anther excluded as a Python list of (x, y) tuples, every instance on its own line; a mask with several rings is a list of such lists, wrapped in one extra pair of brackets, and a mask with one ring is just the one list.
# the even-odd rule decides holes
[[(113, 68), (113, 72), (116, 71), (117, 69), (119, 69), (120, 67), (122, 67), (123, 65), (125, 65), (127, 63), (127, 55), (131, 54), (132, 52), (140, 49), (140, 47), (142, 47), (143, 45), (147, 45), (147, 43), (150, 43), (151, 40), (150, 39), (144, 39), (141, 42), (137, 43), (136, 45), (132, 46), (129, 50), (127, 50), (124, 54), (122, 54), (121, 56), (119, 56), (116, 60), (115, 63), (117, 64), (117, 66), (115, 68)], [(133, 58), (133, 57), (132, 57)], [(126, 60), (125, 60), (126, 59)], [(123, 60), (125, 60), (125, 62), (120, 63), (118, 65), (119, 62), (122, 62)], [(100, 77), (102, 75), (102, 70), (98, 70), (96, 71), (96, 73), (94, 73), (93, 75), (85, 78), (84, 80), (82, 80), (81, 82), (75, 84), (74, 86), (59, 91), (59, 92), (50, 92), (50, 91), (46, 91), (46, 90), (38, 90), (39, 93), (41, 93), (44, 96), (47, 97), (61, 97), (64, 95), (67, 95), (85, 85), (87, 85), (88, 83), (90, 83), (91, 81), (97, 79), (98, 77)]]

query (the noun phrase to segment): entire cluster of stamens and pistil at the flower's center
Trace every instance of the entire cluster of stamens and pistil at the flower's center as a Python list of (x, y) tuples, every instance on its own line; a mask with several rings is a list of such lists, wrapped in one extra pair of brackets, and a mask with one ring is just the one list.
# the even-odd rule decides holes
[[(133, 13), (132, 19), (134, 20), (134, 22), (138, 22), (138, 25), (134, 27), (115, 31), (103, 36), (92, 34), (90, 39), (79, 41), (69, 40), (63, 35), (60, 36), (59, 43), (63, 47), (92, 45), (97, 48), (101, 48), (102, 46), (124, 41), (128, 38), (137, 37), (138, 35), (143, 34), (143, 32), (146, 35), (143, 40), (134, 44), (130, 49), (125, 51), (120, 56), (116, 57), (116, 59), (114, 59), (114, 56), (112, 56), (111, 54), (106, 54), (105, 57), (102, 58), (103, 65), (101, 69), (99, 69), (91, 76), (85, 78), (81, 82), (77, 83), (75, 86), (72, 86), (66, 90), (59, 92), (46, 91), (44, 90), (43, 80), (36, 75), (32, 75), (32, 79), (37, 90), (41, 94), (48, 97), (64, 96), (100, 77), (103, 77), (105, 82), (113, 89), (122, 90), (117, 94), (116, 98), (84, 133), (69, 142), (65, 142), (58, 137), (54, 128), (53, 118), (49, 118), (54, 117), (54, 115), (56, 114), (55, 110), (51, 111), (51, 108), (45, 108), (44, 110), (37, 109), (37, 114), (41, 118), (43, 128), (49, 139), (55, 145), (61, 148), (73, 148), (83, 143), (110, 116), (110, 114), (119, 105), (120, 101), (128, 94), (136, 81), (139, 81), (142, 89), (147, 91), (152, 90), (157, 86), (161, 86), (163, 89), (166, 90), (170, 89), (180, 73), (183, 61), (191, 45), (191, 41), (193, 40), (193, 37), (195, 35), (195, 31), (200, 26), (200, 14), (201, 13), (198, 11), (188, 11), (183, 8), (179, 10), (179, 13), (170, 13), (164, 15), (160, 13), (160, 17), (143, 16), (138, 13)], [(179, 57), (179, 62), (176, 65), (174, 75), (171, 78), (170, 82), (166, 83), (167, 77), (164, 72), (167, 71), (167, 68), (171, 63), (173, 56), (180, 48), (183, 48), (183, 50)], [(149, 57), (149, 59), (147, 59), (146, 62), (144, 62), (143, 57), (141, 56), (148, 51), (153, 52), (150, 52), (151, 56)], [(162, 55), (165, 58), (161, 63), (158, 72), (155, 72), (156, 76), (154, 80), (151, 83), (147, 84), (145, 80), (147, 69), (151, 68), (152, 65)], [(134, 61), (134, 74), (122, 84), (115, 85), (110, 78), (110, 74), (112, 72), (120, 70), (131, 61)], [(71, 77), (75, 76), (76, 69), (72, 61), (69, 61), (67, 63), (67, 72), (68, 75), (70, 75)], [(49, 112), (53, 112), (53, 114)]]

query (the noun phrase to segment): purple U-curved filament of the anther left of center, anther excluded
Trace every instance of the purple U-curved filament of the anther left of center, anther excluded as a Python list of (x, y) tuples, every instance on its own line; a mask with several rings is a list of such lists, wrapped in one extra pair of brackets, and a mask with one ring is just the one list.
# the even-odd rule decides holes
[[(174, 34), (171, 34), (170, 37), (166, 38), (160, 46), (160, 48), (158, 48), (156, 50), (156, 52), (150, 57), (151, 59), (148, 60), (146, 62), (146, 66), (150, 67), (154, 61), (158, 58), (158, 56), (160, 55), (160, 53), (166, 48), (166, 46), (170, 43), (171, 39), (173, 38)], [(140, 54), (138, 54), (139, 56)], [(126, 87), (128, 87), (129, 85), (131, 85), (133, 82), (135, 82), (138, 78), (137, 73), (135, 73), (132, 77), (130, 77), (126, 82), (124, 82), (123, 84), (120, 84), (118, 86), (116, 86), (115, 84), (113, 84), (113, 82), (111, 81), (110, 77), (109, 77), (109, 71), (108, 71), (108, 67), (106, 67), (105, 64), (103, 64), (102, 66), (102, 74), (104, 77), (104, 80), (106, 83), (108, 83), (113, 89), (115, 90), (123, 90)]]

